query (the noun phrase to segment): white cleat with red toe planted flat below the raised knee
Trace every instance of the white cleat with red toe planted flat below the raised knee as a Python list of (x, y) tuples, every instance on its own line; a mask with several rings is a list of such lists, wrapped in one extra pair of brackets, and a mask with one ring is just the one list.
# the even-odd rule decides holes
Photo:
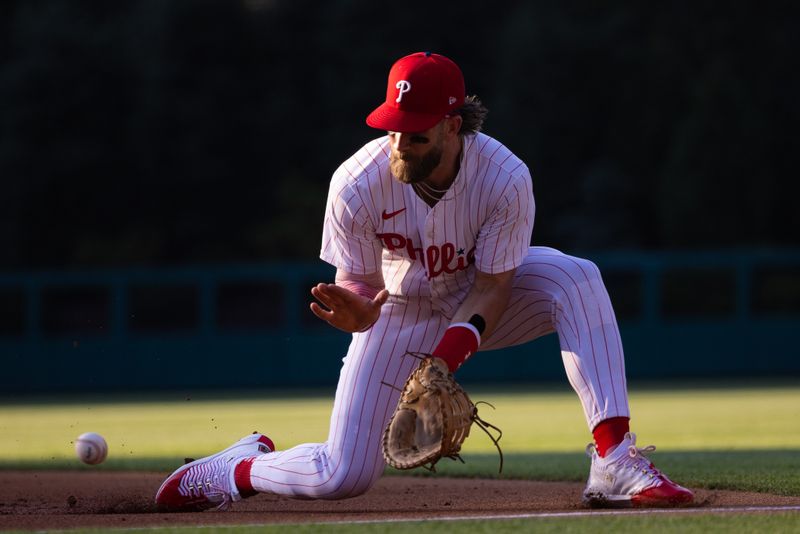
[(652, 445), (636, 447), (636, 434), (625, 439), (610, 454), (601, 458), (593, 443), (586, 447), (592, 459), (589, 481), (583, 491), (583, 502), (589, 506), (674, 506), (688, 504), (694, 494), (667, 478), (656, 469), (644, 453)]

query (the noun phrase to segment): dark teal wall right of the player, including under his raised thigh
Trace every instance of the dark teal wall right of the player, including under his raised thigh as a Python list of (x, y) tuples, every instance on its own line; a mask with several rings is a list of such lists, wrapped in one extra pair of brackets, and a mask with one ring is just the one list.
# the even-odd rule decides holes
[[(800, 378), (798, 251), (585, 257), (614, 303), (629, 378)], [(459, 371), (465, 382), (564, 377), (554, 334), (489, 354)]]

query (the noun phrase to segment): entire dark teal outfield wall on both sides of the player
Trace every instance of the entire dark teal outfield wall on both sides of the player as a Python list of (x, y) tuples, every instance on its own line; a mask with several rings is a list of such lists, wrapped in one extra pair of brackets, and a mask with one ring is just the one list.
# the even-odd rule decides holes
[[(800, 251), (585, 254), (629, 378), (800, 378)], [(349, 336), (309, 311), (321, 262), (0, 275), (4, 393), (333, 386)], [(466, 383), (563, 380), (555, 335)]]

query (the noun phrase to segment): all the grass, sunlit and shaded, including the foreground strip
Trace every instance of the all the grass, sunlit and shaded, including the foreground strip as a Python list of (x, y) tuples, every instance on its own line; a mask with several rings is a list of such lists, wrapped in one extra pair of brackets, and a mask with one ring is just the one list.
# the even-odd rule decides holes
[[(583, 481), (584, 446), (591, 439), (570, 391), (479, 389), (481, 415), (503, 429), (503, 477)], [(639, 445), (673, 478), (691, 487), (800, 495), (800, 388), (682, 387), (633, 389), (632, 428)], [(228, 446), (253, 430), (281, 448), (325, 439), (330, 396), (177, 394), (0, 402), (0, 469), (134, 469), (169, 471), (184, 456)], [(109, 442), (109, 459), (89, 467), (72, 440), (94, 431)], [(496, 477), (498, 456), (477, 429), (465, 444), (466, 464), (443, 460), (436, 476)], [(395, 471), (390, 471), (396, 473)], [(416, 470), (420, 476), (430, 476)], [(800, 514), (692, 514), (550, 518), (472, 522), (415, 522), (324, 526), (204, 528), (203, 532), (796, 532)], [(191, 529), (158, 529), (160, 533)], [(93, 532), (83, 530), (79, 532)], [(96, 532), (96, 531), (94, 531)]]

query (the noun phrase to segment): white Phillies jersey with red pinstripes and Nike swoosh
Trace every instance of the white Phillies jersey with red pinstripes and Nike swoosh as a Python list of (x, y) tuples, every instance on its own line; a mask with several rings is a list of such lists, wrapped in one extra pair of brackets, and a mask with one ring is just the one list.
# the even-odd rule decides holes
[(430, 207), (389, 169), (389, 137), (367, 143), (334, 173), (320, 257), (352, 274), (383, 273), (394, 298), (430, 297), (452, 317), (475, 278), (528, 254), (534, 200), (528, 168), (497, 140), (464, 137), (461, 166)]

